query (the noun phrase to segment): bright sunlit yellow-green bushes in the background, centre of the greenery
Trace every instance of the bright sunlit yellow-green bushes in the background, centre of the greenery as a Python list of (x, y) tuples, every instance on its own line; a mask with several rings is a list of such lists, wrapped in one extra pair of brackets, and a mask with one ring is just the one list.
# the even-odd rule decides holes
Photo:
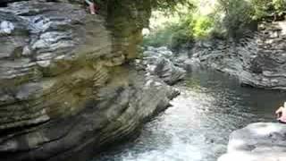
[[(194, 8), (182, 14), (179, 22), (170, 22), (143, 38), (145, 46), (178, 48), (195, 39), (207, 38), (214, 29), (212, 17), (199, 15)], [(183, 12), (180, 12), (183, 13)]]

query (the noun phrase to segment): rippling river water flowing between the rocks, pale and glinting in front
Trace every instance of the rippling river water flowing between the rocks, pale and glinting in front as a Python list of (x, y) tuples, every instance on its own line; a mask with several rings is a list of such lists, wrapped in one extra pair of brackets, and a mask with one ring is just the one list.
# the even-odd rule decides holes
[(199, 67), (176, 88), (181, 96), (147, 123), (139, 138), (93, 161), (215, 161), (231, 131), (274, 122), (274, 110), (286, 100), (286, 93), (242, 88), (235, 78)]

